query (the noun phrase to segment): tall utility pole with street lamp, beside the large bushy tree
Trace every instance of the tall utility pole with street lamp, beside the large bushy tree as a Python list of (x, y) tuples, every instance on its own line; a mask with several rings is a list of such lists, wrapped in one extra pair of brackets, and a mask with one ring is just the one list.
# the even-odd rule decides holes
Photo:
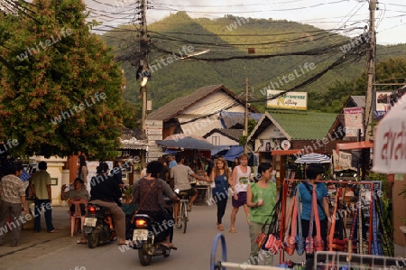
[(146, 88), (146, 84), (147, 84), (147, 80), (148, 80), (148, 75), (149, 75), (149, 70), (148, 70), (148, 42), (149, 42), (149, 38), (148, 38), (148, 34), (147, 34), (147, 23), (146, 23), (146, 10), (147, 10), (147, 6), (145, 4), (145, 0), (141, 0), (141, 4), (140, 4), (140, 14), (141, 14), (141, 30), (140, 30), (140, 52), (141, 52), (141, 61), (140, 61), (140, 66), (143, 67), (143, 71), (142, 71), (142, 83), (141, 83), (141, 96), (143, 99), (143, 119), (141, 119), (142, 121), (142, 126), (143, 126), (143, 134), (145, 135), (145, 119), (147, 116), (147, 88)]

